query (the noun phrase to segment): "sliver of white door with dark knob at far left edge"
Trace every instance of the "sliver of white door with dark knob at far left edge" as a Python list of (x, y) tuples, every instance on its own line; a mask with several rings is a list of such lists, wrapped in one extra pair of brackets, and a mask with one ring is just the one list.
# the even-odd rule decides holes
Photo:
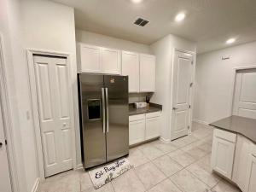
[(0, 106), (0, 191), (11, 192), (9, 165), (3, 131), (3, 116)]

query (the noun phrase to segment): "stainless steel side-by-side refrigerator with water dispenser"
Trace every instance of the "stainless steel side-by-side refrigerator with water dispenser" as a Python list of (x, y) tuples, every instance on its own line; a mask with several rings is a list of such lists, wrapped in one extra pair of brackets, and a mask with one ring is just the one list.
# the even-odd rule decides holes
[(78, 79), (84, 168), (129, 154), (128, 77), (80, 73)]

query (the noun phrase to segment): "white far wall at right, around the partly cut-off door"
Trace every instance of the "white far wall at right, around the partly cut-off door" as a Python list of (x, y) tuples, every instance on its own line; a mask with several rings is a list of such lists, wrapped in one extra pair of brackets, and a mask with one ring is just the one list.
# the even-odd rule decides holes
[(256, 67), (255, 50), (253, 42), (197, 55), (193, 119), (211, 123), (230, 116), (233, 68)]

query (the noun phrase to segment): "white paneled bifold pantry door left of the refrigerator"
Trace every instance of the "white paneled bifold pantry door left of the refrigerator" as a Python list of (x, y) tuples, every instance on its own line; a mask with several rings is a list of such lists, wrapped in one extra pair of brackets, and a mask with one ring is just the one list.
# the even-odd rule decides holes
[(67, 59), (33, 56), (45, 177), (73, 168)]

